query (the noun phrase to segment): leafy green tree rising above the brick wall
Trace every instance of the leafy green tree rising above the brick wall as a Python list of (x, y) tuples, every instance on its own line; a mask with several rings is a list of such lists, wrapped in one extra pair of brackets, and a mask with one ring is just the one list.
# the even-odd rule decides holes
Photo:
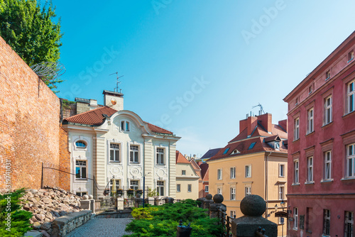
[(52, 1), (41, 8), (37, 0), (0, 0), (0, 35), (29, 66), (59, 62), (62, 33), (55, 17)]

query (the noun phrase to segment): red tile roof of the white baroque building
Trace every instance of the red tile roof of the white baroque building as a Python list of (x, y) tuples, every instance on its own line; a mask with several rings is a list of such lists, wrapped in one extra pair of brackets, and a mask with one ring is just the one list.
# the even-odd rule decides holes
[[(112, 116), (116, 112), (117, 112), (116, 109), (111, 109), (108, 106), (103, 106), (97, 109), (86, 111), (81, 114), (77, 114), (75, 116), (71, 116), (69, 118), (65, 118), (63, 119), (63, 123), (80, 123), (80, 124), (87, 124), (92, 126), (100, 126), (102, 125), (102, 123), (104, 123), (104, 114), (106, 114), (107, 116)], [(151, 123), (147, 123), (147, 124), (149, 129), (151, 129), (153, 133), (165, 133), (165, 134), (173, 135), (172, 132), (164, 128), (160, 128)]]

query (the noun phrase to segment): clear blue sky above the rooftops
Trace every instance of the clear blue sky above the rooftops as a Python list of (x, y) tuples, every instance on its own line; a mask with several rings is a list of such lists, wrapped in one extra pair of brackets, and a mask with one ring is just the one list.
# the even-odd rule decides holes
[(355, 2), (67, 1), (61, 17), (65, 82), (58, 97), (97, 99), (116, 87), (124, 109), (203, 155), (239, 133), (258, 103), (287, 118), (283, 98), (354, 31)]

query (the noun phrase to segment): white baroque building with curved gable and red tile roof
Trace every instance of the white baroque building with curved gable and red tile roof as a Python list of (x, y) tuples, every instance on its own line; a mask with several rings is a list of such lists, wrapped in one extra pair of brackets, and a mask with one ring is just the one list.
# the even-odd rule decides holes
[[(102, 197), (103, 190), (112, 185), (111, 178), (117, 189), (143, 189), (145, 176), (145, 186), (155, 189), (158, 196), (175, 198), (175, 150), (180, 137), (124, 110), (121, 93), (104, 91), (101, 107), (92, 101), (89, 111), (62, 122), (68, 133), (70, 166), (76, 173), (71, 191)], [(89, 174), (97, 185), (89, 184)]]

